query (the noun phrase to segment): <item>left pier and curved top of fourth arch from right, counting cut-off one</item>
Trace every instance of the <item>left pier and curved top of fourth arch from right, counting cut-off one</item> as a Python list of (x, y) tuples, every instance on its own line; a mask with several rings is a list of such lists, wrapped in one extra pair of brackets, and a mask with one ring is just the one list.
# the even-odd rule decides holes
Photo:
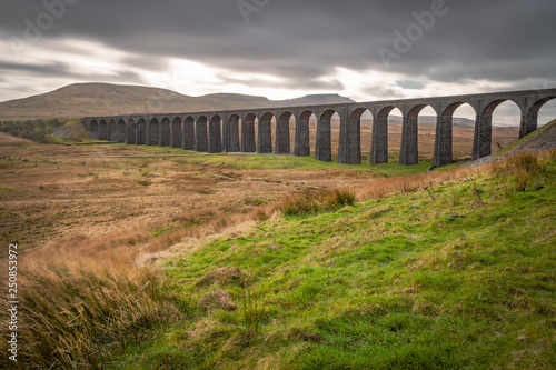
[[(435, 119), (438, 117), (436, 109), (425, 103), (410, 108), (407, 117), (404, 117), (399, 150), (399, 164), (401, 166), (419, 163), (419, 114), (425, 109), (431, 109)], [(434, 148), (434, 136), (431, 136), (430, 141), (430, 146)]]

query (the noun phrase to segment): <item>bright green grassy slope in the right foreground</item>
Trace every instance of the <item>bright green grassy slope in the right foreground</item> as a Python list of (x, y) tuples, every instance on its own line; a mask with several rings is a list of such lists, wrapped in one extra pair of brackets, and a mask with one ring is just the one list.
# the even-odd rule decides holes
[[(512, 174), (480, 176), (437, 186), (436, 200), (413, 192), (207, 242), (166, 264), (186, 319), (109, 368), (554, 369), (556, 163), (545, 164), (525, 192), (508, 191)], [(207, 279), (221, 268), (248, 271), (257, 331), (246, 287)], [(219, 290), (238, 310), (196, 309)]]

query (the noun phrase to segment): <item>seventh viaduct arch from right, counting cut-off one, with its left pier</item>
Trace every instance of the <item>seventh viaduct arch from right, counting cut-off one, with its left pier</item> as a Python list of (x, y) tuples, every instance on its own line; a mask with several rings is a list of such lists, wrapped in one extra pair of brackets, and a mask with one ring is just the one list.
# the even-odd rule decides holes
[(335, 110), (327, 110), (320, 116), (320, 120), (317, 123), (316, 160), (322, 162), (330, 162), (332, 160), (332, 146), (335, 152), (338, 152), (339, 128), (340, 117)]

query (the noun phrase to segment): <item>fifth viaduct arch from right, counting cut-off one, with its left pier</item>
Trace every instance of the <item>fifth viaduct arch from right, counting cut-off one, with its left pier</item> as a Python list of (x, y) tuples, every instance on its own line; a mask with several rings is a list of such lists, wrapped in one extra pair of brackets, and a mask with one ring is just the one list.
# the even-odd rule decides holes
[(388, 163), (398, 157), (401, 142), (401, 111), (388, 106), (379, 110), (373, 127), (370, 164)]

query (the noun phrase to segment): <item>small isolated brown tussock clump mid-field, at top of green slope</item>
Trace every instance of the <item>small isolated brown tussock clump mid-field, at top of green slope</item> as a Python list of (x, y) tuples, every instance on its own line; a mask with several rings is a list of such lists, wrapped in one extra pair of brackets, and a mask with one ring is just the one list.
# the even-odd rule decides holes
[(286, 199), (277, 209), (285, 216), (316, 214), (353, 206), (354, 202), (355, 194), (347, 190), (306, 191)]

